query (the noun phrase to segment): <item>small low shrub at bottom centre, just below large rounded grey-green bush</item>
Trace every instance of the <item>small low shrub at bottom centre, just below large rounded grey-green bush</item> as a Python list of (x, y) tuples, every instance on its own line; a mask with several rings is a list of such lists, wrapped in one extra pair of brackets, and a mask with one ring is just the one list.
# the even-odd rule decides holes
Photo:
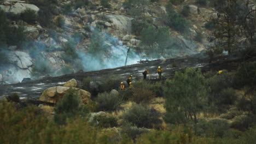
[(149, 130), (146, 128), (138, 128), (131, 123), (124, 123), (121, 126), (121, 134), (126, 134), (127, 136), (131, 137), (133, 140), (136, 139), (137, 136), (148, 133)]

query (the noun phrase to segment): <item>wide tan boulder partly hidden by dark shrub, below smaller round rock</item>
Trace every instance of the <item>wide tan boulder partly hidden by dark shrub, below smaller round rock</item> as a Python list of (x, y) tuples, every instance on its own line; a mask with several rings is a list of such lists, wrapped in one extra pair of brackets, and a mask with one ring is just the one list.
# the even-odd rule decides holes
[[(44, 101), (47, 103), (53, 103), (56, 104), (57, 101), (59, 101), (63, 95), (67, 93), (67, 90), (70, 87), (62, 87), (62, 86), (57, 86), (57, 87), (50, 87), (45, 89), (45, 91), (40, 95), (39, 100)], [(87, 91), (84, 91), (83, 89), (79, 88), (73, 88), (78, 94), (78, 97), (80, 97), (81, 102), (83, 104), (87, 104), (88, 100), (91, 98), (91, 94)]]

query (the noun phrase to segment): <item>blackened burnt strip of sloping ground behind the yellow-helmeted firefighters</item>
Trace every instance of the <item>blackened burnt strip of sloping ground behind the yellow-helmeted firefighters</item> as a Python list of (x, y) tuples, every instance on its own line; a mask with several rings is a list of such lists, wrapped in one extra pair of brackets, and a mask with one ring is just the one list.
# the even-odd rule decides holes
[[(240, 57), (220, 56), (217, 61), (209, 63), (210, 59), (200, 54), (196, 54), (188, 57), (164, 59), (150, 61), (144, 64), (133, 64), (124, 67), (114, 69), (103, 69), (98, 71), (88, 71), (83, 73), (75, 73), (57, 77), (45, 77), (43, 79), (15, 83), (11, 85), (0, 86), (0, 97), (8, 95), (8, 93), (17, 92), (21, 98), (30, 97), (38, 99), (40, 94), (49, 87), (62, 86), (66, 81), (75, 79), (78, 81), (78, 85), (82, 85), (84, 77), (90, 76), (92, 80), (101, 83), (101, 81), (110, 75), (114, 75), (126, 80), (126, 77), (133, 75), (133, 80), (143, 79), (144, 69), (149, 69), (150, 81), (157, 81), (156, 69), (158, 66), (164, 70), (162, 73), (163, 79), (171, 78), (176, 70), (181, 70), (188, 67), (201, 68), (202, 71), (208, 70), (235, 70), (238, 67), (238, 63), (243, 61)], [(173, 65), (176, 67), (173, 67)]]

